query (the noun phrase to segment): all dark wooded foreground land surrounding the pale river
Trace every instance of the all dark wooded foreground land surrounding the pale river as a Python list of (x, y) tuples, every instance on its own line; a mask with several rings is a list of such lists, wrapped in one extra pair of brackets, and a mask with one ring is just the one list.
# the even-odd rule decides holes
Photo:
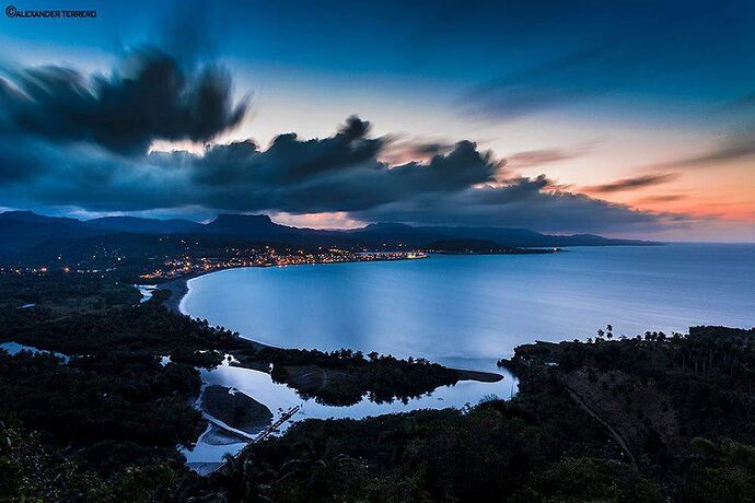
[[(135, 305), (136, 290), (112, 282), (45, 284), (34, 283), (28, 308), (11, 305), (23, 284), (2, 291), (2, 340), (70, 360), (0, 351), (0, 500), (755, 499), (755, 330), (525, 344), (501, 361), (521, 379), (512, 400), (301, 421), (199, 477), (176, 446), (207, 426), (191, 407), (197, 367), (226, 353), (251, 367), (272, 363), (275, 379), (328, 402), (411, 396), (462, 375), (421, 360), (256, 346), (171, 313), (165, 293)], [(325, 382), (311, 378), (323, 373)], [(232, 428), (267, 417), (224, 388), (210, 394)]]

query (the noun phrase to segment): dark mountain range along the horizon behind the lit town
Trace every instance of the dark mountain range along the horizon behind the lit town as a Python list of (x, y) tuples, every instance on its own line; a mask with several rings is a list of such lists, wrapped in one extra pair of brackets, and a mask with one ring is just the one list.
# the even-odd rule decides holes
[(136, 217), (105, 217), (78, 220), (45, 217), (32, 211), (0, 213), (0, 257), (23, 254), (40, 243), (74, 241), (115, 234), (207, 235), (245, 242), (293, 245), (348, 246), (361, 248), (421, 247), (433, 242), (486, 241), (512, 247), (562, 247), (646, 245), (649, 242), (613, 239), (593, 234), (548, 235), (526, 229), (413, 226), (402, 223), (371, 223), (351, 230), (314, 230), (281, 225), (268, 215), (220, 214), (209, 223), (190, 220), (158, 220)]

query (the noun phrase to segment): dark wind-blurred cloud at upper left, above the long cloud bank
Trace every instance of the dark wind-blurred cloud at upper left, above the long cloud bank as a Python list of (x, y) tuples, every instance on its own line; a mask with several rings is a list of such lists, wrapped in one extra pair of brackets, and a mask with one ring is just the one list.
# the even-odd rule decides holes
[(143, 153), (155, 139), (209, 141), (237, 126), (246, 108), (233, 102), (226, 71), (186, 71), (158, 49), (131, 52), (109, 77), (40, 67), (0, 79), (2, 131), (118, 153)]

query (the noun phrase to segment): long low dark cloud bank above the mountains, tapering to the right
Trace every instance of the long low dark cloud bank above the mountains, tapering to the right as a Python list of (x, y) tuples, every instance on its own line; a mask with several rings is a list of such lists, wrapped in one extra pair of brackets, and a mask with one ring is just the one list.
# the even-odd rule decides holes
[(616, 232), (669, 220), (559, 190), (544, 175), (501, 183), (501, 162), (468, 141), (423, 163), (390, 165), (379, 159), (391, 141), (371, 138), (369, 122), (356, 117), (327, 138), (301, 140), (287, 133), (267, 150), (246, 141), (213, 145), (204, 155), (120, 155), (96, 143), (50, 143), (34, 137), (19, 143), (21, 149), (0, 148), (2, 160), (20, 166), (27, 159), (35, 165), (23, 176), (20, 167), (0, 172), (0, 197), (16, 206), (90, 211), (344, 211), (370, 221), (549, 231)]

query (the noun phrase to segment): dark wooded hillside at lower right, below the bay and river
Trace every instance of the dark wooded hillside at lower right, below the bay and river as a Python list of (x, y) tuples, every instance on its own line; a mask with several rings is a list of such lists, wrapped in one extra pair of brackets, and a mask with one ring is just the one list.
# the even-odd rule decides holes
[(755, 331), (607, 328), (518, 348), (511, 401), (300, 422), (212, 484), (230, 501), (753, 501)]

